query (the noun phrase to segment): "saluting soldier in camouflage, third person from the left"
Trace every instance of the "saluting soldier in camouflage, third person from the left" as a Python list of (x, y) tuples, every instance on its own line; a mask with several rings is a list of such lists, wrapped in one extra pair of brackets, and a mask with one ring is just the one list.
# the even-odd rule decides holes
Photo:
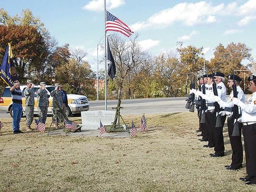
[(46, 123), (46, 118), (47, 118), (47, 111), (49, 107), (49, 95), (47, 94), (46, 91), (46, 83), (41, 82), (40, 83), (40, 89), (37, 91), (37, 109), (38, 109), (38, 114), (39, 118), (38, 121), (41, 123)]

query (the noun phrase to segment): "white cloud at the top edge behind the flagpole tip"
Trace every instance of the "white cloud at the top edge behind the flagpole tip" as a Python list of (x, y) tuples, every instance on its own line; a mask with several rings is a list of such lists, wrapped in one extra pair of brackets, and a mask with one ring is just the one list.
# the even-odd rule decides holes
[[(118, 8), (125, 4), (125, 0), (106, 0), (106, 7), (110, 10), (113, 8)], [(104, 10), (104, 0), (91, 0), (83, 9), (90, 11), (102, 11)]]

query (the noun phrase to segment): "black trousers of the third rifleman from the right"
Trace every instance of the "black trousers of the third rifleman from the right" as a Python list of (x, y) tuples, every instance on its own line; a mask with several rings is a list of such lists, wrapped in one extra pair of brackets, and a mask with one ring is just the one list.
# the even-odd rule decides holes
[(214, 138), (215, 138), (215, 147), (214, 151), (216, 155), (222, 155), (224, 153), (224, 137), (223, 137), (223, 126), (226, 121), (227, 116), (220, 116), (221, 117), (221, 127), (214, 128)]

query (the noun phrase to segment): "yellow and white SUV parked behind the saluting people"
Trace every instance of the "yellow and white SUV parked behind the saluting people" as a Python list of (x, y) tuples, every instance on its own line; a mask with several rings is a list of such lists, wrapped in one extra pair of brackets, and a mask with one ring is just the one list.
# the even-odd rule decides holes
[[(20, 85), (20, 90), (22, 91), (23, 111), (25, 110), (24, 91), (25, 91), (26, 87), (27, 87), (27, 85)], [(40, 88), (39, 85), (35, 85), (32, 88), (32, 91), (34, 92), (34, 96), (35, 96), (34, 114), (38, 114), (38, 110), (37, 110), (37, 90), (39, 88)], [(46, 91), (47, 91), (48, 97), (49, 97), (48, 114), (52, 113), (53, 98), (50, 96), (50, 92), (52, 92), (54, 89), (55, 89), (55, 86), (46, 85)], [(71, 116), (72, 114), (79, 114), (79, 113), (81, 113), (81, 111), (89, 110), (89, 101), (88, 101), (86, 96), (76, 95), (76, 94), (67, 94), (67, 99), (68, 99), (68, 107), (67, 107), (67, 110), (66, 110), (66, 115), (67, 116)], [(10, 113), (10, 116), (13, 117), (10, 87), (6, 87), (3, 91), (3, 93), (2, 93), (2, 96), (0, 98), (0, 110), (1, 111), (6, 111), (7, 113)]]

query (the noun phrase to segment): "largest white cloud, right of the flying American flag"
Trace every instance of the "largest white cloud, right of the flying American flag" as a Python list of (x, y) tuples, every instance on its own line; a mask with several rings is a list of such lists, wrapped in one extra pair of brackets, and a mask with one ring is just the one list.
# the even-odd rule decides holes
[(179, 3), (172, 8), (164, 9), (146, 22), (135, 23), (134, 29), (140, 30), (148, 26), (166, 26), (174, 22), (182, 22), (185, 25), (193, 26), (200, 23), (212, 23), (216, 21), (215, 14), (224, 8), (224, 4), (211, 6), (210, 3), (200, 1), (198, 3)]

